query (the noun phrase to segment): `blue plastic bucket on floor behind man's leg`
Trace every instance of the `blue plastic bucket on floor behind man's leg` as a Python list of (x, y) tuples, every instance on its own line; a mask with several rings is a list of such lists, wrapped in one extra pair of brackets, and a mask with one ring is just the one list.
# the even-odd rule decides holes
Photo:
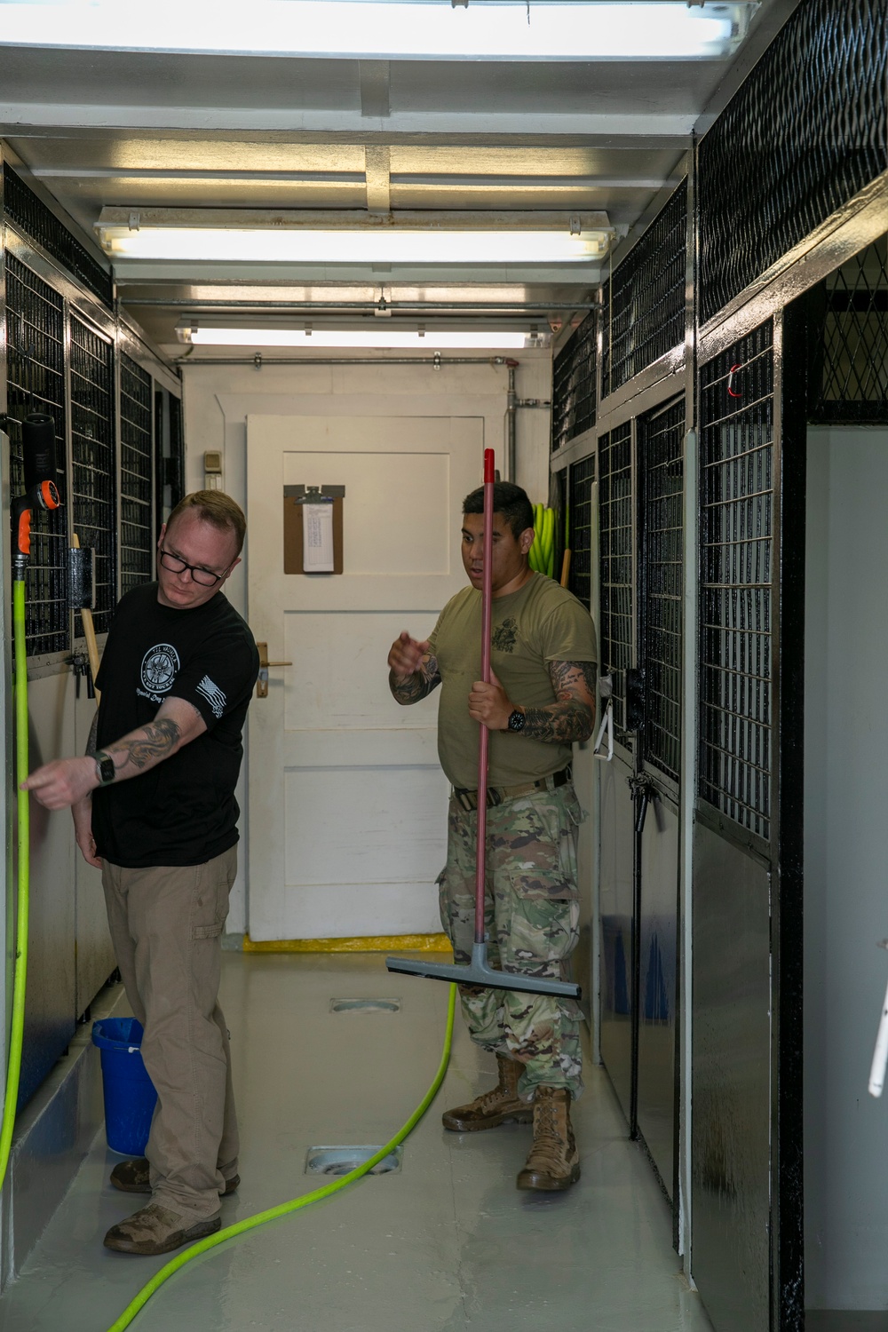
[(105, 1092), (105, 1138), (114, 1152), (144, 1156), (157, 1092), (140, 1050), (142, 1024), (136, 1018), (103, 1018), (92, 1024), (92, 1043), (101, 1055)]

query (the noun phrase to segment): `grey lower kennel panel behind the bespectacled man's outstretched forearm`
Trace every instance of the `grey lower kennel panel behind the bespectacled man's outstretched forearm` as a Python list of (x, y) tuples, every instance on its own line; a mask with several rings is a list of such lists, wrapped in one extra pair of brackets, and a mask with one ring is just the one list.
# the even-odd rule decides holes
[[(52, 758), (73, 754), (73, 690), (68, 671), (31, 681), (28, 711), (32, 771)], [(33, 1096), (75, 1032), (73, 847), (71, 811), (51, 814), (32, 799), (28, 986), (19, 1107)]]

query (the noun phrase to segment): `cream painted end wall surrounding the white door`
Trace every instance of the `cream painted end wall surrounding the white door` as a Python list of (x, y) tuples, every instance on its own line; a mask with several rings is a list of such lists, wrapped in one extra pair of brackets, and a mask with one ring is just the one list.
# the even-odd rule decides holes
[[(467, 353), (473, 354), (473, 353)], [(549, 352), (521, 352), (517, 356), (519, 398), (549, 398), (551, 361)], [(485, 422), (485, 446), (497, 450), (497, 466), (505, 472), (505, 413), (507, 372), (489, 361), (477, 365), (274, 365), (266, 357), (261, 369), (253, 365), (182, 368), (184, 425), (189, 490), (204, 485), (204, 452), (222, 453), (222, 486), (238, 503), (246, 503), (246, 417), (411, 414), (475, 416)], [(515, 462), (518, 485), (533, 501), (546, 502), (549, 494), (547, 410), (518, 413)], [(481, 460), (478, 462), (481, 482)], [(403, 497), (409, 502), (409, 496)], [(246, 613), (246, 561), (234, 571), (226, 593), (232, 603)], [(381, 669), (385, 669), (381, 666)], [(248, 751), (246, 766), (254, 761)], [(244, 811), (244, 775), (237, 793)], [(232, 894), (226, 928), (240, 934), (249, 922), (249, 827), (241, 814), (241, 856), (238, 879)]]

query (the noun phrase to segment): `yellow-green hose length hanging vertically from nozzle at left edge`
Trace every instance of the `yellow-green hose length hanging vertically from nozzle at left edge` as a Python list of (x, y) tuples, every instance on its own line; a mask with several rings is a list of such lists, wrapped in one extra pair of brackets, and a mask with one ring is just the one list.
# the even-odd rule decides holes
[(21, 1032), (25, 1022), (25, 978), (28, 974), (28, 880), (31, 825), (28, 793), (21, 783), (28, 777), (28, 654), (25, 645), (25, 582), (24, 570), (12, 583), (12, 634), (16, 659), (16, 795), (19, 805), (19, 894), (16, 907), (15, 980), (12, 987), (12, 1023), (7, 1056), (7, 1092), (3, 1102), (3, 1128), (0, 1128), (0, 1184), (7, 1177), (9, 1146), (16, 1122), (19, 1100), (19, 1074), (21, 1072)]

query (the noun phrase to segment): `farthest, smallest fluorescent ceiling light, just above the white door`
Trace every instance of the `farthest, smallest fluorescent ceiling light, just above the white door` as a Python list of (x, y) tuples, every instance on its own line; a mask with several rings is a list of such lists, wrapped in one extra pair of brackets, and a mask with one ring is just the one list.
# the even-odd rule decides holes
[(181, 342), (193, 346), (366, 348), (402, 352), (443, 352), (453, 348), (515, 349), (546, 346), (547, 337), (529, 329), (324, 329), (324, 328), (204, 328), (180, 324)]

